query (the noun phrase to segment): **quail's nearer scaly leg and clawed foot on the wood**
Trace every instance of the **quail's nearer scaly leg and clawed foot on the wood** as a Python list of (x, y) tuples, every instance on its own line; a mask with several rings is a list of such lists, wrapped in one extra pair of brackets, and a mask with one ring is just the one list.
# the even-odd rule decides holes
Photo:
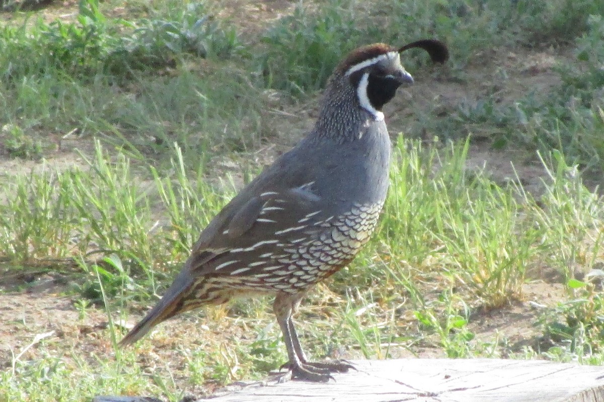
[[(286, 382), (291, 378), (298, 378), (300, 380), (312, 381), (312, 382), (327, 382), (330, 378), (333, 378), (329, 374), (329, 369), (318, 368), (302, 361), (298, 356), (301, 354), (304, 360), (306, 356), (300, 347), (298, 336), (296, 334), (293, 322), (291, 322), (292, 308), (295, 303), (298, 303), (301, 295), (290, 295), (285, 292), (280, 292), (275, 298), (273, 308), (275, 310), (275, 316), (277, 316), (277, 322), (283, 332), (283, 339), (285, 341), (285, 347), (288, 350), (289, 362), (282, 367), (288, 368), (288, 373), (280, 378), (280, 382)], [(290, 325), (291, 324), (291, 325)]]

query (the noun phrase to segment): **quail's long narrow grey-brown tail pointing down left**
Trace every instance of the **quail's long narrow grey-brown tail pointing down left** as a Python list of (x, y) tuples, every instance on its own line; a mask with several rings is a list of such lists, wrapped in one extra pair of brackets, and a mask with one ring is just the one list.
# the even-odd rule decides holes
[(190, 310), (184, 306), (184, 301), (190, 294), (192, 285), (190, 276), (184, 275), (184, 272), (181, 272), (174, 280), (174, 283), (172, 283), (172, 286), (165, 292), (164, 297), (124, 336), (124, 339), (118, 345), (121, 347), (131, 345), (143, 338), (151, 328), (160, 322), (172, 318), (185, 310)]

